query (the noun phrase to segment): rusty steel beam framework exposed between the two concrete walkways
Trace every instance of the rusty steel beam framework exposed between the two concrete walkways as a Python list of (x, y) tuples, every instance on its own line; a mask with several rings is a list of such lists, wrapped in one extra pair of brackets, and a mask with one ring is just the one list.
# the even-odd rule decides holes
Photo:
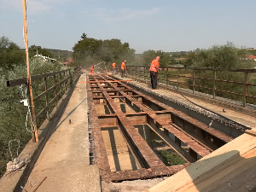
[[(99, 83), (99, 80), (102, 82), (108, 80), (108, 85), (102, 85)], [(189, 165), (166, 166), (157, 155), (154, 154), (154, 150), (148, 146), (148, 143), (141, 137), (133, 125), (149, 125), (150, 129), (167, 143), (169, 149), (174, 149), (177, 154), (182, 156), (187, 162), (195, 162), (195, 160), (198, 159), (198, 155), (202, 157), (206, 156), (212, 151), (212, 148), (207, 147), (207, 145), (202, 143), (199, 139), (190, 136), (189, 133), (183, 129), (186, 123), (192, 125), (192, 127), (195, 126), (201, 131), (206, 131), (208, 134), (226, 143), (233, 139), (189, 117), (189, 115), (185, 113), (179, 112), (166, 104), (154, 100), (150, 96), (146, 96), (132, 89), (127, 84), (118, 82), (108, 75), (104, 77), (92, 76), (90, 77), (90, 81), (96, 82), (95, 84), (87, 85), (89, 88), (90, 106), (94, 108), (92, 114), (96, 114), (96, 105), (99, 105), (95, 104), (93, 101), (100, 99), (105, 101), (104, 105), (108, 105), (111, 111), (111, 114), (97, 114), (96, 117), (92, 118), (93, 124), (97, 126), (96, 129), (93, 128), (93, 132), (96, 134), (96, 145), (99, 145), (99, 147), (96, 147), (96, 154), (99, 160), (97, 164), (100, 167), (102, 179), (106, 181), (124, 181), (167, 176), (179, 172), (185, 166)], [(109, 89), (105, 89), (106, 87)], [(99, 90), (93, 90), (95, 88)], [(99, 96), (96, 96), (96, 94)], [(137, 113), (123, 113), (119, 108), (119, 100), (114, 102), (114, 99), (123, 99), (122, 102)], [(179, 125), (182, 121), (174, 122), (173, 117), (183, 120), (183, 126)], [(113, 126), (117, 127), (124, 137), (127, 147), (130, 149), (131, 154), (133, 154), (139, 166), (137, 170), (122, 172), (110, 171), (101, 129), (108, 129)], [(169, 137), (169, 132), (175, 136), (175, 140)], [(187, 144), (188, 147), (182, 147), (182, 142)], [(103, 151), (103, 154), (101, 154), (101, 151)], [(107, 166), (104, 164), (107, 164)]]

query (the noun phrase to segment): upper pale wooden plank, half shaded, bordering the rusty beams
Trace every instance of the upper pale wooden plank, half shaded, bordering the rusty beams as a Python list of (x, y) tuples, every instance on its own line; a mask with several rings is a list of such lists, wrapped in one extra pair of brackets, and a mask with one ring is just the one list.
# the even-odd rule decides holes
[(167, 192), (183, 189), (202, 177), (206, 177), (217, 168), (221, 168), (231, 160), (235, 160), (240, 155), (246, 154), (253, 148), (256, 148), (256, 137), (243, 134), (230, 143), (225, 144), (222, 148), (218, 148), (212, 154), (208, 154), (206, 157), (198, 160), (183, 171), (177, 172), (174, 176), (148, 189), (148, 191)]

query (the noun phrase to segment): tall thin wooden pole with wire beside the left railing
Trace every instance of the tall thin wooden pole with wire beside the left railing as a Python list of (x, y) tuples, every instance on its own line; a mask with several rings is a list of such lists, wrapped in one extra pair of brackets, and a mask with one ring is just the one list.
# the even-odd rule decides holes
[(38, 129), (37, 129), (37, 121), (36, 121), (36, 114), (35, 114), (35, 107), (33, 102), (33, 95), (32, 95), (32, 84), (31, 84), (31, 75), (30, 75), (30, 66), (29, 66), (29, 58), (28, 58), (28, 43), (27, 43), (27, 26), (26, 26), (26, 0), (22, 0), (23, 4), (23, 20), (24, 20), (24, 42), (26, 48), (26, 69), (27, 69), (27, 85), (29, 91), (29, 108), (31, 109), (32, 113), (32, 142), (38, 143)]

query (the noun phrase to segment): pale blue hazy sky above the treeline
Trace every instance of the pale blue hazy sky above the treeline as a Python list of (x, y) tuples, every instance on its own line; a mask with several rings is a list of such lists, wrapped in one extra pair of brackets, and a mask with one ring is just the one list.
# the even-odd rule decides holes
[[(256, 48), (255, 0), (28, 0), (28, 43), (72, 50), (83, 32), (137, 53), (189, 51), (230, 41)], [(20, 47), (22, 0), (0, 0), (0, 36)]]

